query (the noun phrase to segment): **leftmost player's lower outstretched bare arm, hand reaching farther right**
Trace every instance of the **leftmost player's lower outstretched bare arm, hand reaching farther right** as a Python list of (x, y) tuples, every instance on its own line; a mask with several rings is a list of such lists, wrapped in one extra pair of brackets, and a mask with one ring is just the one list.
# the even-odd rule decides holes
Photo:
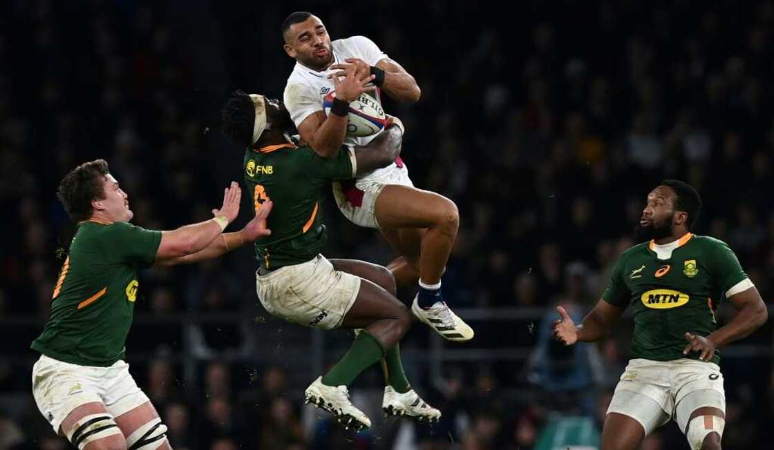
[(269, 236), (269, 234), (272, 234), (272, 230), (266, 228), (266, 217), (268, 217), (269, 213), (272, 211), (273, 205), (274, 203), (272, 203), (271, 199), (266, 200), (261, 205), (261, 208), (255, 212), (255, 217), (253, 217), (244, 228), (233, 233), (221, 234), (222, 239), (216, 238), (207, 245), (207, 247), (204, 247), (204, 249), (197, 251), (194, 254), (158, 261), (157, 264), (173, 266), (177, 264), (192, 264), (199, 261), (206, 261), (227, 254), (229, 251), (235, 251), (245, 244), (251, 244), (259, 237)]

